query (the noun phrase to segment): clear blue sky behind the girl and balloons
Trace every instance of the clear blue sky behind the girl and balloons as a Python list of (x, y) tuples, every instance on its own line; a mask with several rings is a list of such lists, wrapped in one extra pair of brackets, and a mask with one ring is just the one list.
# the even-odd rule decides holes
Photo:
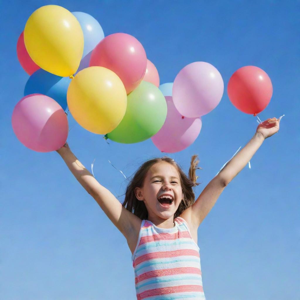
[[(160, 82), (173, 82), (194, 61), (224, 80), (220, 104), (202, 117), (196, 141), (170, 154), (188, 171), (198, 154), (196, 197), (240, 146), (256, 118), (230, 103), (226, 87), (240, 67), (271, 78), (273, 96), (261, 120), (279, 117), (268, 138), (225, 188), (198, 230), (207, 300), (299, 300), (299, 1), (4, 1), (1, 4), (0, 295), (3, 300), (136, 299), (126, 239), (76, 181), (56, 152), (38, 153), (16, 138), (14, 106), (28, 74), (16, 55), (26, 21), (57, 4), (95, 17), (105, 36), (125, 32), (144, 46)], [(161, 157), (151, 139), (125, 145), (92, 134), (68, 115), (68, 143), (96, 179), (122, 202), (144, 161)]]

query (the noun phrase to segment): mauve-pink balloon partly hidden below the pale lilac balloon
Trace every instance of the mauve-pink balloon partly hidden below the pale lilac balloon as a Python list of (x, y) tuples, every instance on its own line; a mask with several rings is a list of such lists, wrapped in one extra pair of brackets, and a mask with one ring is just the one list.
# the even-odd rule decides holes
[(201, 118), (186, 118), (176, 109), (172, 97), (166, 96), (167, 118), (163, 127), (151, 137), (154, 145), (161, 152), (174, 153), (187, 148), (198, 137)]

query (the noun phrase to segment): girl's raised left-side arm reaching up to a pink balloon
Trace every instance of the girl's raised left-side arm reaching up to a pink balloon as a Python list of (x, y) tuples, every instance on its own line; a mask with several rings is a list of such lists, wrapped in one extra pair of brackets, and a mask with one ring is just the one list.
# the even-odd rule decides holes
[(71, 152), (67, 143), (58, 149), (57, 152), (62, 157), (75, 178), (97, 201), (113, 224), (127, 239), (131, 238), (133, 223), (139, 222), (140, 219), (122, 206), (119, 200), (95, 179), (95, 177)]

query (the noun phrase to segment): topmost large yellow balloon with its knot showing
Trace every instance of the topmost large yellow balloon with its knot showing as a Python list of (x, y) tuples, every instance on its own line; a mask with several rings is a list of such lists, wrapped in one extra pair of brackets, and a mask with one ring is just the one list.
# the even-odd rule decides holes
[(24, 42), (32, 60), (62, 77), (73, 75), (82, 58), (84, 39), (76, 17), (64, 7), (46, 5), (26, 22)]

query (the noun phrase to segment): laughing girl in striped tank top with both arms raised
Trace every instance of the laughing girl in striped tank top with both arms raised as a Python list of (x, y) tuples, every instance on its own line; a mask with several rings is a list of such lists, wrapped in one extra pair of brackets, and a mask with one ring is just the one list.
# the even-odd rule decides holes
[[(65, 144), (57, 152), (127, 239), (138, 300), (204, 300), (197, 229), (227, 184), (244, 168), (262, 142), (279, 130), (268, 119), (202, 191), (192, 187), (199, 161), (193, 155), (187, 177), (168, 157), (144, 163), (128, 184), (123, 205), (77, 160)], [(126, 205), (126, 207), (125, 207)]]

